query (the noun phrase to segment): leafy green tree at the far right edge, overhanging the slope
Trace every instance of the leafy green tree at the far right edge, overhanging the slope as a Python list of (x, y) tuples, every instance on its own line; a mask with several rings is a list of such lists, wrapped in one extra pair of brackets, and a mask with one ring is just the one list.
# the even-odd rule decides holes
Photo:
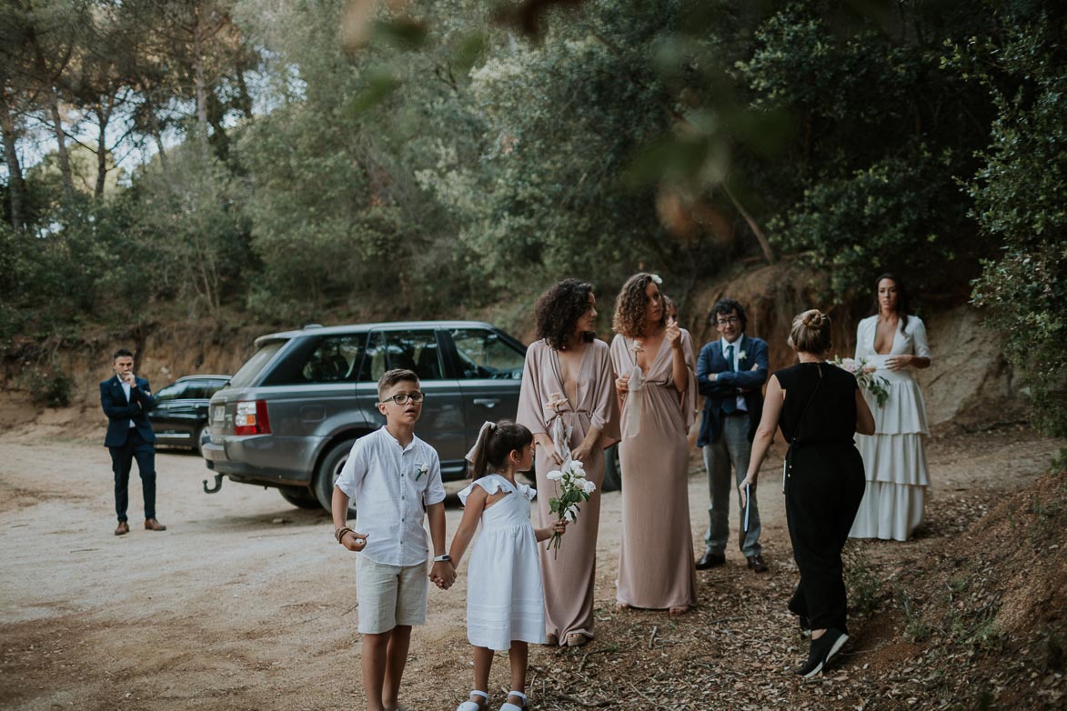
[(1067, 434), (1067, 30), (1060, 12), (1008, 16), (997, 39), (954, 48), (954, 64), (997, 106), (984, 165), (968, 183), (973, 216), (1000, 242), (972, 300), (1007, 336), (1033, 399), (1033, 421)]

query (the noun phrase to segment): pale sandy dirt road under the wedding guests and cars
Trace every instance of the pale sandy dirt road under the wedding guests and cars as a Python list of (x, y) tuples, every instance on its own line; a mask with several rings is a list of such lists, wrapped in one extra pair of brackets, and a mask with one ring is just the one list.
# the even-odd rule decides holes
[[(334, 543), (324, 512), (300, 511), (273, 490), (232, 482), (219, 494), (205, 495), (201, 480), (207, 471), (197, 457), (160, 453), (158, 515), (169, 530), (141, 528), (134, 476), (132, 530), (115, 537), (107, 450), (42, 439), (26, 432), (0, 437), (0, 708), (362, 708), (353, 558)], [(958, 511), (949, 504), (959, 497), (988, 500), (1031, 481), (1061, 446), (1025, 432), (935, 439), (929, 448), (936, 487), (931, 514)], [(696, 466), (695, 458), (695, 471)], [(672, 647), (668, 637), (685, 632), (687, 625), (704, 624), (704, 611), (724, 611), (738, 619), (738, 629), (746, 628), (745, 611), (732, 601), (737, 594), (770, 600), (767, 610), (776, 612), (752, 625), (752, 633), (766, 637), (761, 644), (770, 649), (776, 666), (797, 661), (795, 648), (777, 643), (792, 624), (783, 610), (777, 611), (796, 573), (782, 497), (773, 484), (775, 469), (768, 463), (767, 485), (761, 488), (771, 573), (757, 577), (746, 570), (731, 542), (726, 568), (700, 573), (701, 614), (676, 624), (665, 613), (615, 610), (620, 495), (605, 495), (599, 639), (580, 657), (532, 650), (531, 666), (540, 674), (532, 693), (540, 708), (579, 708), (566, 698), (580, 696), (582, 690), (550, 693), (546, 679), (576, 667), (579, 659), (586, 667), (584, 655), (595, 651), (604, 656), (589, 657), (590, 666), (577, 672), (588, 674), (598, 660), (598, 674), (610, 675), (622, 656), (642, 653), (648, 634), (642, 625), (653, 637), (658, 633), (667, 640), (648, 660), (650, 675), (682, 661), (676, 656), (685, 647)], [(701, 475), (690, 479), (689, 494), (700, 550), (706, 521)], [(448, 511), (449, 536), (460, 514), (455, 506)], [(937, 540), (944, 535), (941, 524), (935, 521), (930, 531), (905, 545), (873, 545), (885, 555), (921, 554), (943, 545)], [(469, 689), (464, 601), (462, 575), (449, 592), (430, 589), (429, 623), (415, 632), (404, 678), (402, 700), (413, 709), (453, 709)], [(641, 643), (631, 645), (638, 633)], [(494, 666), (493, 689), (506, 683), (506, 667)], [(627, 701), (626, 694), (615, 699), (615, 708), (640, 705), (633, 696)]]

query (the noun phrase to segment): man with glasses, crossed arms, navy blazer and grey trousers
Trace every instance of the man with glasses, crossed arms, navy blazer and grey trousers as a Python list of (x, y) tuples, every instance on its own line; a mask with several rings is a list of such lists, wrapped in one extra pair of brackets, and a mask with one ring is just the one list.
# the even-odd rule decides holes
[[(704, 417), (697, 446), (704, 451), (711, 505), (708, 528), (704, 535), (704, 554), (697, 561), (698, 570), (726, 563), (730, 537), (730, 490), (748, 473), (752, 437), (763, 415), (763, 384), (769, 362), (767, 343), (745, 335), (748, 321), (745, 309), (732, 298), (721, 298), (712, 309), (712, 321), (720, 338), (700, 349), (697, 361), (697, 387), (704, 398)], [(730, 476), (731, 465), (734, 475)], [(748, 529), (742, 527), (742, 552), (748, 567), (766, 572), (760, 546), (760, 510), (755, 489), (749, 496)], [(745, 511), (740, 512), (744, 523)]]

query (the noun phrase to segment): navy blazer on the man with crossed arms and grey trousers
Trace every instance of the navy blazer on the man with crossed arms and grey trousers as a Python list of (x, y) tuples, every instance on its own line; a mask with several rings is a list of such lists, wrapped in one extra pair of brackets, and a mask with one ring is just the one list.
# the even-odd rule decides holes
[[(706, 397), (700, 436), (697, 438), (698, 447), (717, 442), (722, 436), (722, 419), (726, 417), (722, 403), (726, 400), (734, 400), (738, 394), (745, 397), (749, 441), (755, 437), (760, 418), (763, 417), (763, 384), (767, 382), (767, 373), (770, 371), (767, 343), (742, 334), (740, 338), (734, 341), (734, 348), (737, 349), (738, 355), (745, 353), (744, 358), (737, 359), (736, 372), (722, 355), (721, 338), (705, 343), (704, 348), (700, 349), (700, 357), (697, 359), (697, 390)], [(752, 370), (753, 365), (757, 366), (755, 370)], [(717, 373), (714, 382), (707, 377), (712, 373)]]

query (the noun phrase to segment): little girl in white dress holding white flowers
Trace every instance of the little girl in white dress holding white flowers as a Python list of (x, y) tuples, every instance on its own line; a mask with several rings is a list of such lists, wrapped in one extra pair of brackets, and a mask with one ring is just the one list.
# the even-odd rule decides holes
[(500, 711), (527, 706), (526, 658), (529, 643), (544, 644), (544, 591), (537, 544), (567, 522), (537, 529), (530, 524), (530, 501), (537, 491), (515, 482), (515, 472), (534, 466), (534, 435), (521, 424), (487, 422), (467, 453), (474, 483), (460, 491), (463, 520), (448, 551), (452, 565), (481, 532), (467, 568), (467, 640), (474, 647), (474, 691), (457, 711), (489, 708), (489, 670), (493, 651), (507, 649), (511, 689)]

